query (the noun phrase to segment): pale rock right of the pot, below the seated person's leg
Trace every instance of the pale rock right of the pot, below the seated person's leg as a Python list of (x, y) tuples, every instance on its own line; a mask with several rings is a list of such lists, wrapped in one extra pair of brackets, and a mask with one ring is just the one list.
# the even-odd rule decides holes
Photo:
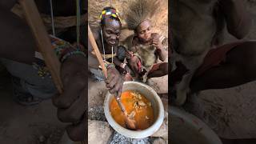
[(158, 78), (150, 78), (146, 84), (152, 87), (158, 94), (168, 93), (168, 75)]

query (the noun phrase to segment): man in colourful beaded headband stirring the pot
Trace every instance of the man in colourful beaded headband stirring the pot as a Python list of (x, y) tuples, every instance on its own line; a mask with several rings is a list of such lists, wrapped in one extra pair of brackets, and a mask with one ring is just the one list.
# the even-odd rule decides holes
[[(92, 28), (98, 49), (102, 54), (102, 58), (106, 64), (108, 78), (106, 79), (106, 87), (110, 93), (118, 92), (117, 96), (121, 96), (123, 79), (115, 66), (120, 66), (117, 56), (118, 43), (121, 33), (122, 23), (118, 11), (113, 7), (105, 7), (99, 16), (101, 22), (98, 28)], [(98, 60), (94, 55), (92, 47), (88, 45), (89, 70), (98, 80), (104, 79), (102, 71), (99, 70)], [(126, 66), (127, 67), (127, 66)]]

